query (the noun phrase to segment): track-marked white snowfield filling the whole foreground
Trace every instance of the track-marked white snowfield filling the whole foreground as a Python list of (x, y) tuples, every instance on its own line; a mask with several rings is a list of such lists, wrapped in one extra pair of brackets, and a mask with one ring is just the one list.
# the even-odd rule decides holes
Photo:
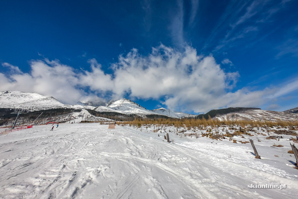
[[(233, 138), (252, 138), (259, 160), (250, 143), (183, 137), (173, 129), (51, 127), (0, 137), (1, 198), (297, 198), (298, 170), (287, 153), (293, 136)], [(251, 184), (286, 188), (249, 189)]]

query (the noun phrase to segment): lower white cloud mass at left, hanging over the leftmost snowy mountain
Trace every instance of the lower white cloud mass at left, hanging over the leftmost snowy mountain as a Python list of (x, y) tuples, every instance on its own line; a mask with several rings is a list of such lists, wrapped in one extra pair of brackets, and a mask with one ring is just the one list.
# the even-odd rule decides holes
[[(24, 92), (36, 92), (41, 95), (50, 95), (55, 98), (74, 104), (81, 99), (92, 98), (94, 101), (103, 101), (102, 98), (94, 98), (91, 94), (84, 91), (84, 88), (90, 86), (91, 91), (100, 90), (98, 84), (103, 83), (105, 74), (99, 69), (99, 65), (90, 60), (91, 72), (76, 71), (74, 68), (61, 64), (58, 60), (30, 61), (30, 73), (0, 73), (1, 90), (20, 90)], [(3, 65), (3, 64), (2, 64)], [(4, 64), (14, 69), (8, 64)], [(94, 83), (90, 79), (96, 79)], [(105, 84), (105, 82), (104, 82)]]

